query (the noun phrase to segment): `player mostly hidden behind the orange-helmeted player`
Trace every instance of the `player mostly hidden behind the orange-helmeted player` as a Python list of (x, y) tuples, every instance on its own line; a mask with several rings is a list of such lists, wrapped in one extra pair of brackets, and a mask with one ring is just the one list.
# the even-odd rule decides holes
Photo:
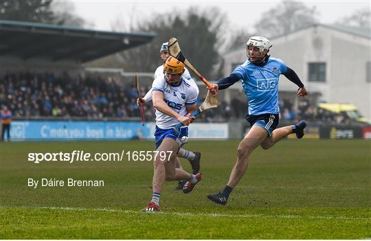
[[(162, 59), (163, 64), (160, 65), (159, 67), (157, 67), (157, 69), (155, 71), (155, 78), (164, 75), (164, 63), (168, 59), (169, 56), (170, 56), (170, 54), (169, 54), (169, 51), (168, 51), (168, 42), (166, 42), (166, 43), (163, 43), (161, 45), (161, 48), (160, 48), (160, 57)], [(198, 91), (197, 92), (197, 95), (198, 95), (199, 94), (199, 87), (197, 87), (197, 84), (194, 82), (194, 80), (190, 76), (190, 71), (188, 71), (188, 69), (186, 69), (186, 67), (184, 68), (184, 73), (183, 73), (182, 77), (185, 78), (186, 80), (190, 80), (188, 82), (190, 83), (190, 85), (194, 85), (194, 87)], [(137, 104), (144, 104), (145, 102), (151, 101), (152, 100), (152, 90), (153, 89), (151, 88), (146, 93), (146, 95), (144, 95), (143, 98), (138, 98), (137, 99)], [(196, 152), (196, 151), (191, 152), (190, 150), (180, 148), (179, 152), (177, 153), (177, 157), (183, 157), (185, 159), (188, 159), (188, 161), (190, 161), (190, 164), (192, 166), (192, 173), (193, 174), (196, 174), (197, 172), (199, 172), (201, 152)], [(179, 159), (177, 159), (176, 164), (177, 164), (176, 165), (177, 168), (183, 169)], [(175, 187), (175, 190), (182, 190), (183, 185), (185, 183), (186, 183), (186, 181), (179, 181), (177, 187)]]

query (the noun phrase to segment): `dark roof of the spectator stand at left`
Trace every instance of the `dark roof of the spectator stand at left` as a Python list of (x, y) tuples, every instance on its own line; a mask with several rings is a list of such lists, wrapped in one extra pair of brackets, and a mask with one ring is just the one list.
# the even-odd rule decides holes
[(0, 20), (1, 55), (23, 60), (46, 57), (56, 62), (88, 62), (152, 41), (154, 33), (86, 30), (80, 27)]

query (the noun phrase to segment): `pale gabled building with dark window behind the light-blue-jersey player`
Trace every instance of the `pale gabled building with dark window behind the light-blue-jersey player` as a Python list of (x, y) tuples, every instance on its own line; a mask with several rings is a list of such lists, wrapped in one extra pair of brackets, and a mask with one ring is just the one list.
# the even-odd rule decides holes
[[(371, 119), (369, 28), (315, 24), (269, 40), (273, 45), (269, 54), (284, 60), (297, 73), (312, 103), (355, 104), (362, 115)], [(229, 76), (246, 58), (245, 46), (225, 54), (224, 76)], [(295, 84), (281, 76), (280, 97), (297, 103), (296, 89)]]

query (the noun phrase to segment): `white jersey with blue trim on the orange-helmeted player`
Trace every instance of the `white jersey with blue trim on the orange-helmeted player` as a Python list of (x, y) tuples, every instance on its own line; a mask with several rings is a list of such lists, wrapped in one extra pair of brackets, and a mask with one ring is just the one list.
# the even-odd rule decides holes
[[(186, 80), (181, 77), (181, 83), (175, 87), (166, 82), (164, 74), (153, 80), (152, 91), (161, 91), (164, 93), (164, 101), (173, 111), (179, 115), (187, 114), (187, 105), (196, 104), (199, 88), (192, 80)], [(156, 125), (161, 129), (170, 129), (176, 126), (179, 121), (175, 117), (166, 115), (161, 111), (155, 112)]]

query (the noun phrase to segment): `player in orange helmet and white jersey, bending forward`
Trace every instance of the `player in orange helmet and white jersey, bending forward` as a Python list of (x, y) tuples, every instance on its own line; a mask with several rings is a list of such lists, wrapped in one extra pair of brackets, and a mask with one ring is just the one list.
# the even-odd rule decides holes
[[(159, 198), (161, 187), (165, 181), (187, 180), (183, 186), (183, 193), (191, 192), (202, 174), (190, 174), (176, 168), (177, 152), (183, 146), (183, 138), (188, 139), (188, 124), (194, 117), (190, 114), (196, 110), (198, 90), (190, 84), (189, 80), (181, 75), (184, 64), (170, 56), (164, 65), (164, 75), (153, 80), (152, 102), (156, 109), (155, 141), (159, 154), (155, 155), (153, 162), (153, 194), (152, 200), (142, 211), (160, 211)], [(181, 122), (183, 127), (179, 133), (175, 126)]]

